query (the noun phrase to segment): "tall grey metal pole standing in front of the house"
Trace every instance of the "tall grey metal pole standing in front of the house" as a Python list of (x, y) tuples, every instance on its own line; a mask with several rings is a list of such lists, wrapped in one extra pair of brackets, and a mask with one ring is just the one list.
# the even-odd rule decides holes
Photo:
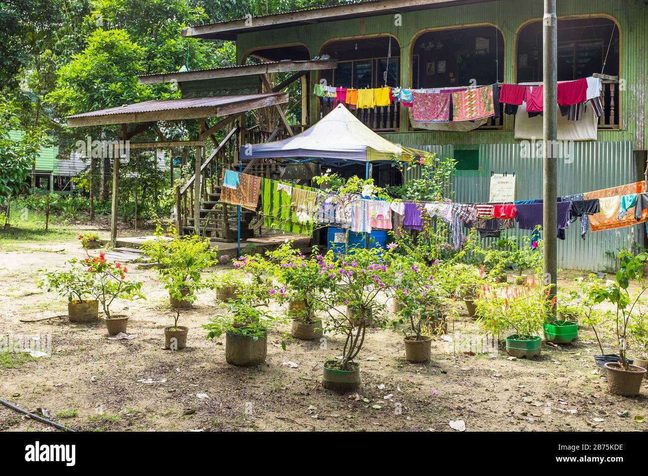
[[(556, 295), (557, 283), (557, 139), (558, 139), (558, 104), (557, 104), (557, 36), (556, 0), (544, 0), (544, 17), (542, 19), (543, 71), (544, 71), (544, 115), (542, 117), (544, 177), (542, 187), (544, 265), (543, 282), (551, 286), (551, 296)], [(556, 306), (551, 313), (555, 317)]]

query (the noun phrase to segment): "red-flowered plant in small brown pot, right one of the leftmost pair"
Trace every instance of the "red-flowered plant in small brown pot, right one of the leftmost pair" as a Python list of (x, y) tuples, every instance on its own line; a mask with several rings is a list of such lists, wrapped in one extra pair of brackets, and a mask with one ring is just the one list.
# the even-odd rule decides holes
[(108, 263), (104, 253), (101, 253), (98, 258), (86, 258), (84, 263), (87, 266), (86, 272), (95, 280), (95, 293), (106, 314), (108, 334), (125, 333), (128, 317), (112, 315), (110, 306), (115, 299), (143, 299), (142, 283), (126, 280), (128, 269), (120, 263)]

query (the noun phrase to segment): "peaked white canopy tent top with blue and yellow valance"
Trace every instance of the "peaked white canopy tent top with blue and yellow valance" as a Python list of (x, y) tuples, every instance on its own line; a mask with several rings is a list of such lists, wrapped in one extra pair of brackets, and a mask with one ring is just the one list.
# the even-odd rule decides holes
[(303, 157), (327, 162), (389, 162), (397, 158), (410, 161), (428, 152), (389, 142), (338, 104), (314, 126), (283, 141), (248, 144), (241, 148), (241, 159), (266, 157)]

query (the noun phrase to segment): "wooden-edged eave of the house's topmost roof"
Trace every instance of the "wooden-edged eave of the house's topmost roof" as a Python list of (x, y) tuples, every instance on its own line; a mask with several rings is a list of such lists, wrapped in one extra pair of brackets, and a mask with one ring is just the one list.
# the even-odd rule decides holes
[(237, 35), (240, 33), (487, 1), (494, 0), (365, 0), (349, 5), (320, 6), (309, 10), (295, 10), (293, 12), (259, 16), (254, 17), (253, 21), (249, 21), (249, 18), (242, 18), (196, 25), (182, 30), (182, 36), (208, 38), (210, 40), (236, 40)]

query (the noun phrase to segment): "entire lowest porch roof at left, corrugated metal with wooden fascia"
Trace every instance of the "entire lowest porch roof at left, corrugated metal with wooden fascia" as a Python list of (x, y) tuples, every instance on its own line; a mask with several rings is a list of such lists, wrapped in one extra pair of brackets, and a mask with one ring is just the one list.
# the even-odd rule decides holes
[(74, 128), (104, 124), (128, 124), (130, 122), (220, 117), (284, 102), (288, 102), (288, 93), (146, 101), (69, 116), (67, 117), (67, 126)]

